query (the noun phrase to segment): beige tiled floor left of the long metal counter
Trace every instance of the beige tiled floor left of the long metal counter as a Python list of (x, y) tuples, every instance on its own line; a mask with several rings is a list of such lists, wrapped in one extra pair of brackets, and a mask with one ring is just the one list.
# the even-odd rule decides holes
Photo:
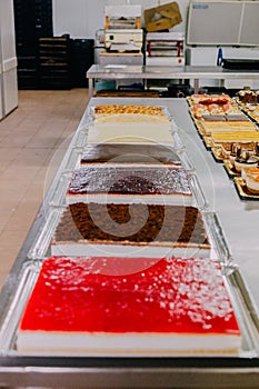
[(22, 90), (0, 121), (0, 288), (87, 103), (87, 89)]

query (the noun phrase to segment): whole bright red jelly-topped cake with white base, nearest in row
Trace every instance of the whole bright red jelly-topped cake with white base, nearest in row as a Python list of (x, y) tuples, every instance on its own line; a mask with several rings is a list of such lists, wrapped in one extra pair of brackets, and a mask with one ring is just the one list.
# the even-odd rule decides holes
[(238, 356), (241, 335), (217, 260), (43, 261), (17, 337), (23, 353)]

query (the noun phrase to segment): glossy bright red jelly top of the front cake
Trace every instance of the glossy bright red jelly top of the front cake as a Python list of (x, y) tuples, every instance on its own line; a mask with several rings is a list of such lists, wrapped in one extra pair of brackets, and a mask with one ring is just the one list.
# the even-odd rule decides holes
[[(20, 330), (104, 333), (239, 335), (216, 260), (147, 260), (143, 269), (107, 275), (118, 258), (44, 260)], [(201, 345), (202, 347), (202, 345)]]

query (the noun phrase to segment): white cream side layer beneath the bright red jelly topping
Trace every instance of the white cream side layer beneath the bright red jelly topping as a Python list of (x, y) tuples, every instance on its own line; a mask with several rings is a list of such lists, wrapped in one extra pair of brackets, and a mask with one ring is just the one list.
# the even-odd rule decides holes
[(21, 352), (83, 356), (228, 356), (238, 355), (241, 338), (233, 335), (76, 333), (19, 331)]

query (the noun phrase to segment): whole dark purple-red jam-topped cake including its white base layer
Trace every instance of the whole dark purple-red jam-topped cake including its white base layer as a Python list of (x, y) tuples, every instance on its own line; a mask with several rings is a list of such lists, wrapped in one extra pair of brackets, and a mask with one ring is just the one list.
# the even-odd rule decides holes
[(190, 205), (188, 171), (176, 166), (90, 163), (73, 171), (67, 202)]

